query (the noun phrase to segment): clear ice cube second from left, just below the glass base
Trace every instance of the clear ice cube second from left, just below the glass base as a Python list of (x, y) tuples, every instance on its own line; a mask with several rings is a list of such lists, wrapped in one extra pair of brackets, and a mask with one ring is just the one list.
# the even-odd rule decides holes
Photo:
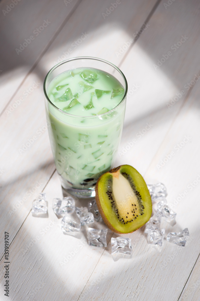
[(73, 213), (75, 210), (75, 201), (73, 197), (64, 197), (63, 199), (53, 199), (53, 211), (55, 214), (60, 215), (67, 213)]

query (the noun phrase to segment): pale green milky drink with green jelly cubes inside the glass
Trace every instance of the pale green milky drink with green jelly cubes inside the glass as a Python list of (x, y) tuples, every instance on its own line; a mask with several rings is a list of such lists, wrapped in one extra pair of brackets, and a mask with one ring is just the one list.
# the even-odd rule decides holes
[(52, 79), (47, 96), (53, 104), (46, 107), (49, 138), (62, 186), (94, 186), (118, 150), (123, 86), (109, 73), (76, 68)]

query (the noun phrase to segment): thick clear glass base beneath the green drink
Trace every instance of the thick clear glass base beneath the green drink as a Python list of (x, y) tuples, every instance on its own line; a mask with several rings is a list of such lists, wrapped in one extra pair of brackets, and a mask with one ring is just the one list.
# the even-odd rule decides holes
[(95, 186), (90, 187), (90, 188), (85, 188), (85, 189), (80, 189), (80, 188), (73, 188), (68, 186), (63, 178), (59, 176), (61, 180), (61, 185), (62, 188), (67, 191), (69, 194), (72, 196), (78, 197), (78, 198), (90, 198), (90, 197), (95, 197)]

